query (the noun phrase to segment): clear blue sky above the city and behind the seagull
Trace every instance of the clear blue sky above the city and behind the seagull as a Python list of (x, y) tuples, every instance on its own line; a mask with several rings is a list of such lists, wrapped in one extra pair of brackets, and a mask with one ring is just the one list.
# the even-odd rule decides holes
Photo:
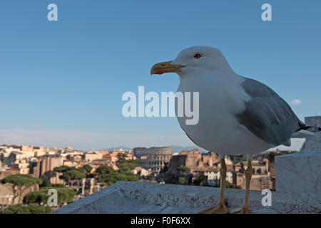
[[(47, 6), (58, 5), (58, 21)], [(272, 6), (272, 21), (261, 6)], [(321, 1), (58, 1), (0, 4), (0, 143), (80, 149), (193, 145), (175, 118), (124, 118), (126, 91), (175, 91), (150, 68), (188, 46), (219, 48), (301, 120), (321, 115)], [(293, 149), (300, 147), (300, 141)]]

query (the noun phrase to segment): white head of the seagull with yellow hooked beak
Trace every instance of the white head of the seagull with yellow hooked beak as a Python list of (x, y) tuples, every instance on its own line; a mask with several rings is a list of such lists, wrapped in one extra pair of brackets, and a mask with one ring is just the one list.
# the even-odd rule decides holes
[(151, 75), (178, 73), (183, 76), (194, 70), (216, 71), (222, 68), (230, 66), (220, 50), (209, 46), (193, 46), (180, 51), (173, 61), (156, 63), (151, 68)]

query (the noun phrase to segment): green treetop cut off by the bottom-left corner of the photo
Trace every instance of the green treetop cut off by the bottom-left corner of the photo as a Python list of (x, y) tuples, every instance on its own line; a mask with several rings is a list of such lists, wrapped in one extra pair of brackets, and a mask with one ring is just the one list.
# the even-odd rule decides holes
[(4, 209), (0, 214), (47, 214), (51, 212), (51, 207), (39, 204), (16, 204)]

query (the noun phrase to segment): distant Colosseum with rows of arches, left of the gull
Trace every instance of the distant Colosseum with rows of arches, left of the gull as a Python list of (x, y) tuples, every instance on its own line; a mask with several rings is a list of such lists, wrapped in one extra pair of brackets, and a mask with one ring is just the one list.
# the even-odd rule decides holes
[(170, 147), (136, 147), (133, 153), (138, 159), (138, 164), (152, 172), (160, 172), (173, 156)]

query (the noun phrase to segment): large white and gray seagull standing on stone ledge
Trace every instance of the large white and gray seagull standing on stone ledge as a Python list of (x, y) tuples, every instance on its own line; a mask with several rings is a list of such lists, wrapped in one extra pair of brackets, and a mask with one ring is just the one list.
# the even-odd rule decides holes
[[(321, 130), (302, 123), (285, 100), (265, 84), (235, 73), (217, 48), (185, 48), (173, 61), (151, 68), (151, 75), (163, 73), (178, 74), (178, 92), (199, 93), (198, 123), (187, 125), (186, 116), (177, 117), (178, 123), (196, 145), (220, 156), (218, 204), (202, 214), (229, 213), (224, 199), (226, 155), (247, 156), (245, 199), (234, 213), (248, 214), (253, 155), (278, 145), (290, 146), (290, 138), (307, 138)], [(177, 101), (175, 111), (178, 116)]]

